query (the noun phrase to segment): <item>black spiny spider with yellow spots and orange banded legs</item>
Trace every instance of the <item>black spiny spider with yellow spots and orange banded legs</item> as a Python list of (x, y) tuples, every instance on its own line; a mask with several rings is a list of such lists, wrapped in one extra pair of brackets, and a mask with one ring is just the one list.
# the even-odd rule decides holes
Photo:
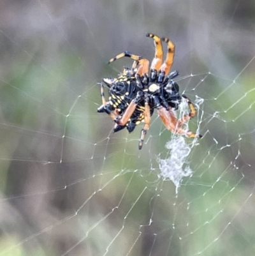
[[(137, 124), (144, 122), (138, 144), (139, 149), (142, 149), (143, 140), (150, 127), (150, 117), (155, 108), (166, 128), (172, 133), (201, 138), (202, 135), (182, 127), (196, 115), (196, 109), (186, 95), (179, 94), (179, 86), (173, 81), (179, 73), (175, 71), (168, 74), (173, 64), (175, 45), (168, 38), (159, 38), (156, 34), (148, 33), (146, 36), (153, 38), (155, 45), (155, 56), (150, 64), (150, 73), (149, 61), (131, 52), (122, 52), (110, 59), (109, 63), (112, 63), (125, 56), (133, 59), (134, 62), (131, 68), (124, 68), (117, 79), (103, 79), (101, 82), (103, 104), (98, 108), (98, 112), (106, 112), (115, 121), (113, 132), (118, 132), (125, 127), (129, 132), (133, 132)], [(168, 45), (164, 63), (161, 40)], [(107, 102), (104, 84), (109, 88), (110, 96)], [(175, 110), (178, 109), (182, 99), (187, 102), (190, 111), (179, 120)]]

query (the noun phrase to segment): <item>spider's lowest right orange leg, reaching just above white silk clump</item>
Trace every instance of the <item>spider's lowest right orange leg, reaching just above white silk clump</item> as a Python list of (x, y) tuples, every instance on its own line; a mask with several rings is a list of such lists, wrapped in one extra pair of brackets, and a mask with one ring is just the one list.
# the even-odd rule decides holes
[(172, 133), (177, 133), (180, 135), (186, 135), (189, 138), (201, 138), (201, 135), (197, 135), (189, 130), (185, 130), (182, 128), (182, 121), (179, 121), (176, 116), (174, 110), (166, 110), (164, 107), (159, 107), (157, 109), (157, 113), (159, 117), (161, 117), (164, 126)]

